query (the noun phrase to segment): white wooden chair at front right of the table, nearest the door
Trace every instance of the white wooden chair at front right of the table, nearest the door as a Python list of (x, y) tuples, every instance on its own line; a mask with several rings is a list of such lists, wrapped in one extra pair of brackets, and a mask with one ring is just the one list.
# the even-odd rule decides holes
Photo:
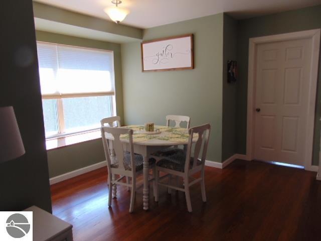
[[(205, 193), (205, 181), (204, 181), (204, 166), (207, 153), (207, 147), (209, 143), (210, 135), (210, 124), (203, 126), (193, 127), (189, 129), (189, 142), (187, 147), (186, 154), (177, 153), (166, 157), (156, 163), (156, 195), (155, 201), (158, 201), (158, 185), (167, 186), (170, 189), (176, 189), (179, 191), (185, 192), (187, 209), (189, 212), (192, 212), (191, 197), (190, 197), (190, 186), (197, 182), (201, 182), (201, 191), (203, 202), (206, 202), (206, 193)], [(198, 134), (198, 140), (193, 143), (193, 137), (195, 134)], [(199, 158), (201, 156), (201, 159)], [(184, 186), (179, 187), (178, 183), (176, 186), (173, 186), (171, 183), (161, 182), (162, 178), (159, 178), (159, 172), (165, 172), (177, 177), (181, 177), (184, 180)], [(201, 172), (200, 178), (194, 178), (193, 175)], [(190, 179), (192, 181), (190, 182)]]

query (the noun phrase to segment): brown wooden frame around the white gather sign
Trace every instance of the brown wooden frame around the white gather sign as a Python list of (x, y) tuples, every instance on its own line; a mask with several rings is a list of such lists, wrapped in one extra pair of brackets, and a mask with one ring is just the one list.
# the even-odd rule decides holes
[[(144, 69), (144, 51), (143, 51), (143, 45), (144, 44), (149, 44), (149, 43), (154, 43), (154, 42), (159, 42), (159, 41), (166, 41), (166, 40), (172, 40), (172, 39), (180, 39), (180, 38), (186, 38), (190, 37), (191, 41), (191, 49), (189, 53), (184, 53), (184, 54), (189, 54), (188, 58), (191, 58), (191, 66), (187, 67), (178, 67), (178, 68), (166, 68), (166, 69)], [(174, 37), (168, 37), (168, 38), (160, 38), (160, 39), (154, 39), (154, 40), (149, 40), (149, 41), (144, 41), (140, 43), (140, 51), (141, 51), (141, 72), (159, 72), (159, 71), (171, 71), (171, 70), (184, 70), (184, 69), (194, 69), (194, 50), (193, 50), (193, 34), (185, 34), (185, 35), (179, 35), (179, 36), (174, 36)], [(164, 50), (162, 51), (164, 54)], [(175, 55), (175, 54), (174, 54)], [(155, 55), (156, 56), (156, 55)]]

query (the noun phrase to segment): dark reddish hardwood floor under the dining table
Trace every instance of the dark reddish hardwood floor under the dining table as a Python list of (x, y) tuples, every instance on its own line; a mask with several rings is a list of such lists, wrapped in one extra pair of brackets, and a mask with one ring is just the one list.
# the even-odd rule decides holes
[[(130, 192), (117, 187), (108, 208), (107, 169), (51, 186), (53, 214), (73, 224), (75, 241), (98, 240), (321, 240), (321, 182), (315, 173), (236, 160), (225, 169), (206, 167), (206, 203), (200, 185), (185, 195), (160, 187), (142, 210), (142, 188), (130, 214)], [(141, 177), (138, 185), (142, 183)], [(150, 189), (151, 190), (151, 189)]]

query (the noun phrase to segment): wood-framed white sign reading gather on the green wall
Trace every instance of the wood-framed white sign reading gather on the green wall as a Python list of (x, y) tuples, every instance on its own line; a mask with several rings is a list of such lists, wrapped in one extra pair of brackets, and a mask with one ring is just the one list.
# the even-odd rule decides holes
[(193, 34), (141, 43), (142, 72), (193, 68)]

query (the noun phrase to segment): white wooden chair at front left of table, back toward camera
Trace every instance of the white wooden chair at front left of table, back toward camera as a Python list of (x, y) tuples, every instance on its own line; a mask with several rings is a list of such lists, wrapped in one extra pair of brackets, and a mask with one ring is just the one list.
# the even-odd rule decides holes
[[(123, 143), (120, 141), (120, 135), (128, 134), (129, 152), (124, 152)], [(127, 128), (114, 128), (114, 127), (102, 127), (101, 137), (104, 146), (105, 156), (107, 159), (108, 168), (108, 184), (109, 184), (109, 198), (108, 206), (111, 206), (111, 198), (116, 198), (116, 185), (124, 185), (131, 188), (130, 206), (129, 212), (133, 211), (135, 193), (136, 193), (136, 176), (142, 174), (143, 170), (143, 158), (141, 155), (134, 154), (132, 143), (133, 130)], [(107, 140), (106, 135), (113, 137), (113, 140)], [(111, 135), (111, 136), (110, 136)], [(155, 165), (151, 163), (150, 168), (153, 168), (153, 176), (155, 176)], [(119, 176), (118, 179), (112, 176)], [(131, 183), (121, 182), (121, 179), (128, 177), (131, 179)], [(154, 195), (155, 195), (155, 182)]]

